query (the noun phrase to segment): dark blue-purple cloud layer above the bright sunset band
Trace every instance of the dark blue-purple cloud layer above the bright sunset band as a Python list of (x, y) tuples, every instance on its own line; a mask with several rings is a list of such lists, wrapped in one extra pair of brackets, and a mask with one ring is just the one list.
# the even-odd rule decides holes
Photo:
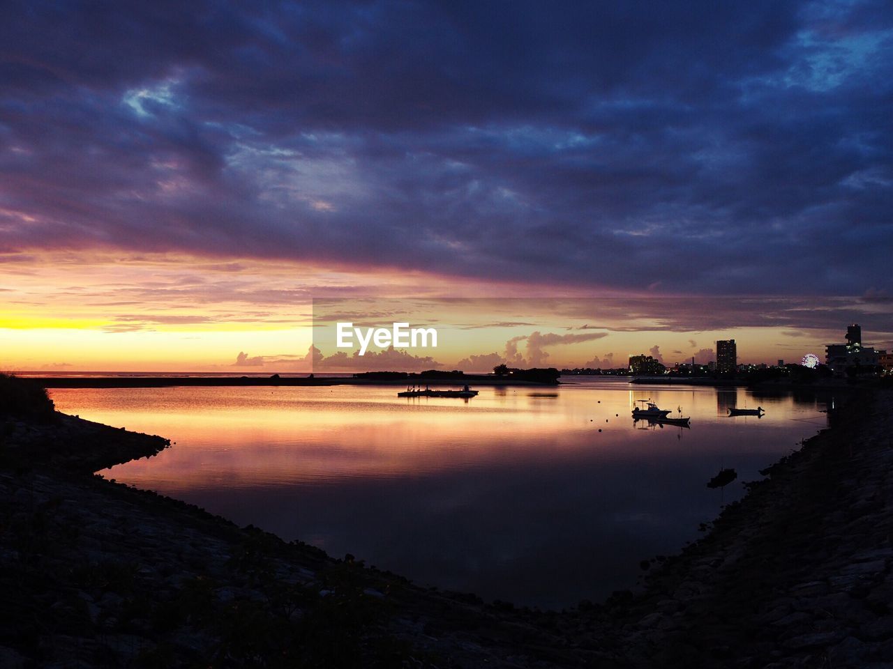
[(888, 4), (6, 3), (0, 253), (864, 294)]

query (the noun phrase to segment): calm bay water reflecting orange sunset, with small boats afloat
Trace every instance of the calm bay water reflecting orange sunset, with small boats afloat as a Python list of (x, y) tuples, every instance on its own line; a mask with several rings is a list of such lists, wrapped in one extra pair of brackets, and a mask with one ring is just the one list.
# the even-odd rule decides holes
[[(823, 403), (790, 395), (571, 383), (481, 388), (468, 402), (349, 385), (52, 396), (68, 413), (176, 442), (106, 477), (415, 582), (540, 607), (633, 587), (640, 559), (697, 538), (741, 481), (825, 425)], [(681, 406), (691, 429), (634, 425), (634, 401), (647, 398)], [(758, 404), (762, 418), (726, 417)], [(738, 481), (707, 489), (721, 467)]]

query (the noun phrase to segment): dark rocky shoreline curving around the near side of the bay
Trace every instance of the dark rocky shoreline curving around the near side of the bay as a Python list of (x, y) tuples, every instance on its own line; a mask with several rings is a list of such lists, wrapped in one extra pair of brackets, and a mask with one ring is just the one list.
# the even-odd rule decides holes
[(160, 437), (0, 418), (0, 665), (893, 666), (891, 434), (857, 395), (641, 593), (541, 612), (90, 474)]

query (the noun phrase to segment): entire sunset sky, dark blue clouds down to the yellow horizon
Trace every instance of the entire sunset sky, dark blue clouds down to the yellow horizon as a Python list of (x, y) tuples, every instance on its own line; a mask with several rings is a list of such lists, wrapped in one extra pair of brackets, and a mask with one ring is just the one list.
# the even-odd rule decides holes
[(272, 368), (357, 295), (893, 347), (891, 109), (884, 2), (5, 2), (0, 367)]

